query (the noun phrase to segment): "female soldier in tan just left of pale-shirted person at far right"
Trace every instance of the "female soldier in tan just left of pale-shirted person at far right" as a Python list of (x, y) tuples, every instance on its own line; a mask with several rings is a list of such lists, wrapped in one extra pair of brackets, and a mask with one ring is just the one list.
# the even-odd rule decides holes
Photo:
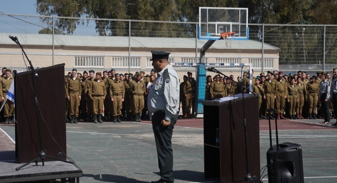
[(316, 83), (316, 76), (313, 75), (310, 79), (310, 82), (307, 84), (306, 93), (308, 98), (308, 118), (309, 119), (317, 119), (316, 118), (316, 105), (318, 101), (318, 89), (319, 86)]

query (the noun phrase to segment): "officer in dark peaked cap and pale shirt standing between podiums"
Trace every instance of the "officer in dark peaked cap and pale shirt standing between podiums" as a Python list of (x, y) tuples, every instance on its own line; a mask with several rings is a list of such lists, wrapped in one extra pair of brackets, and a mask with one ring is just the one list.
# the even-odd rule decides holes
[(152, 116), (152, 129), (158, 154), (160, 179), (152, 183), (174, 182), (172, 133), (178, 119), (179, 78), (170, 66), (166, 52), (152, 53), (152, 65), (158, 71), (148, 95), (148, 109)]

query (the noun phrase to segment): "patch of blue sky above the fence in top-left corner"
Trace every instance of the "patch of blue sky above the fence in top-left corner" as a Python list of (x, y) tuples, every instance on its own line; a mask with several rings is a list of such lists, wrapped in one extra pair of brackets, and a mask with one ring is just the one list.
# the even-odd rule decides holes
[(38, 15), (36, 0), (1, 0), (0, 12), (11, 14)]

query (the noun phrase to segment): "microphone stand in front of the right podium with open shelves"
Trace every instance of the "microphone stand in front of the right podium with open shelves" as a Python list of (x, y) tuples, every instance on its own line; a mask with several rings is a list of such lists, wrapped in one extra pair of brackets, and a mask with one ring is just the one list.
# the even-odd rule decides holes
[[(211, 68), (214, 70), (214, 72), (216, 73), (219, 73), (221, 75), (223, 75), (224, 77), (228, 78), (229, 80), (231, 80), (232, 82), (236, 83), (237, 85), (239, 85), (241, 88), (243, 89), (246, 89), (247, 91), (249, 91), (250, 93), (254, 94), (256, 97), (259, 97), (257, 94), (253, 93), (252, 91), (250, 91), (249, 89), (247, 89), (246, 87), (244, 87), (242, 85), (242, 83), (238, 83), (234, 80), (232, 80), (232, 78), (226, 76), (225, 74), (223, 74), (222, 72), (218, 71), (217, 69), (215, 68)], [(235, 99), (235, 97), (234, 97)], [(236, 182), (241, 182), (241, 181), (247, 181), (247, 182), (253, 182), (255, 183), (256, 182), (256, 176), (251, 176), (250, 173), (249, 173), (249, 167), (248, 167), (248, 147), (247, 147), (247, 123), (246, 123), (246, 116), (245, 116), (245, 104), (244, 104), (244, 92), (242, 91), (242, 107), (243, 107), (243, 128), (244, 128), (244, 132), (245, 132), (245, 151), (246, 151), (246, 170), (247, 170), (247, 175), (245, 176), (244, 179), (242, 180), (238, 180), (238, 181), (234, 181), (234, 182), (231, 182), (231, 183), (236, 183)]]

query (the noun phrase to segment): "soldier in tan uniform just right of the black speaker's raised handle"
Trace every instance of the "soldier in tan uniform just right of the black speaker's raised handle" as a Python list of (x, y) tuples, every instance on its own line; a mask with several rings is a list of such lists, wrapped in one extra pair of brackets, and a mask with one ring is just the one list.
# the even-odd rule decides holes
[(285, 79), (283, 79), (283, 72), (278, 72), (277, 79), (277, 91), (276, 91), (276, 107), (277, 107), (277, 119), (286, 119), (283, 116), (285, 99), (288, 96), (287, 83)]

